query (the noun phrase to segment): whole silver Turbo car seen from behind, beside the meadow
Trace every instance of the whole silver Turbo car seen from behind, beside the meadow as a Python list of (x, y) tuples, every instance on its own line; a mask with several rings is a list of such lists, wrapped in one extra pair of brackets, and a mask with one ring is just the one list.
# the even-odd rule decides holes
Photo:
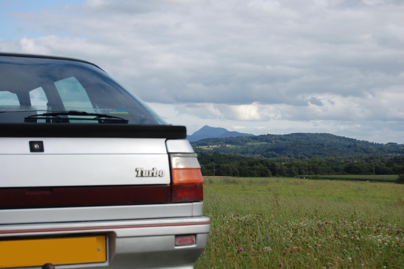
[(210, 219), (185, 138), (94, 64), (0, 53), (0, 268), (192, 268)]

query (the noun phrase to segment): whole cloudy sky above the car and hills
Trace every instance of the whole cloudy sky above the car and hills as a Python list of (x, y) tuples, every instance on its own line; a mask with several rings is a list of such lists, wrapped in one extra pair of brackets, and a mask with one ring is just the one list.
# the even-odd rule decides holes
[(0, 0), (0, 51), (78, 58), (188, 135), (404, 144), (404, 0)]

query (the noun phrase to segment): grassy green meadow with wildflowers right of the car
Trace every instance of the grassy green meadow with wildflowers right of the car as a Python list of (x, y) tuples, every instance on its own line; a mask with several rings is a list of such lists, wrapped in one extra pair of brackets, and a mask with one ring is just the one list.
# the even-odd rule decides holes
[(404, 268), (404, 185), (206, 178), (196, 268)]

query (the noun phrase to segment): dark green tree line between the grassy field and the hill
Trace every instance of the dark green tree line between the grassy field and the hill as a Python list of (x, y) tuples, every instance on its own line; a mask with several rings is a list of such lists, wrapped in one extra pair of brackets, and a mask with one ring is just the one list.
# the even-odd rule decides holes
[[(312, 158), (290, 160), (221, 153), (204, 154), (195, 149), (205, 176), (298, 176), (329, 174), (401, 174), (404, 173), (404, 155), (362, 156), (364, 158)], [(357, 156), (358, 157), (358, 156)]]

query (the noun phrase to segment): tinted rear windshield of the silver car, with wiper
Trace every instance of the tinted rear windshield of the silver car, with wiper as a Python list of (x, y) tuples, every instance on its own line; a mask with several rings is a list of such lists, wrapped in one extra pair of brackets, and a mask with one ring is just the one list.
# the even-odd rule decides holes
[(89, 63), (0, 55), (0, 123), (167, 124)]

